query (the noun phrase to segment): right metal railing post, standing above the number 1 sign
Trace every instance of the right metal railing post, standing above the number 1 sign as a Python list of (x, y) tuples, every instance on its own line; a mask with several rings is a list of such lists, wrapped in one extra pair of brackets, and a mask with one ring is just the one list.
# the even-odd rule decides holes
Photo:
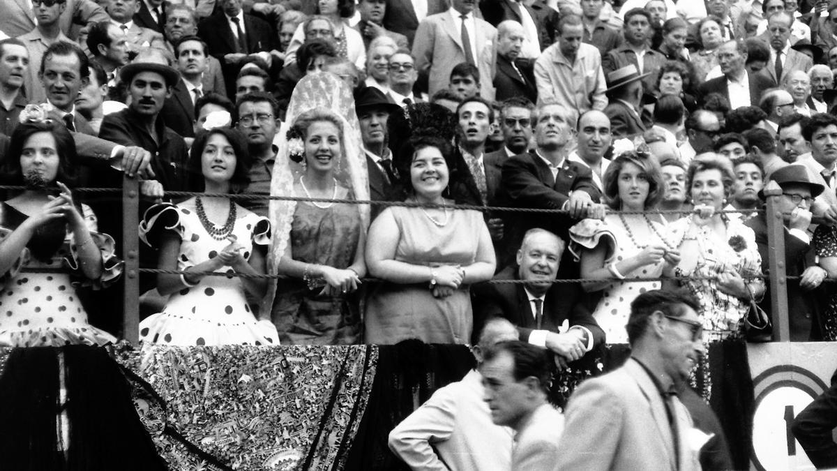
[(790, 322), (788, 319), (788, 270), (784, 259), (784, 218), (779, 208), (782, 188), (774, 181), (764, 186), (767, 197), (765, 220), (768, 223), (768, 257), (770, 267), (770, 312), (773, 322), (773, 340), (790, 341)]

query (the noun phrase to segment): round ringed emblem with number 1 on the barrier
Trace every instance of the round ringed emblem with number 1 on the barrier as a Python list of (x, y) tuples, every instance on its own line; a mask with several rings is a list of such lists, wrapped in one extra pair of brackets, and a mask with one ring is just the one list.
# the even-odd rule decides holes
[(759, 471), (814, 469), (793, 438), (796, 415), (828, 387), (819, 376), (793, 365), (764, 370), (752, 380), (756, 408), (752, 417), (752, 463)]

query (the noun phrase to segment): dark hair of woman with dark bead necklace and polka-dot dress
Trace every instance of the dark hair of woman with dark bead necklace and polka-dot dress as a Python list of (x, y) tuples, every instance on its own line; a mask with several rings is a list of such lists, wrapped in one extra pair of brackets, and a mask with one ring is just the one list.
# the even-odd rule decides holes
[(247, 188), (250, 183), (249, 172), (253, 161), (247, 152), (247, 139), (244, 134), (237, 129), (231, 127), (216, 127), (209, 131), (198, 132), (195, 137), (195, 142), (192, 144), (192, 149), (189, 152), (189, 160), (186, 163), (187, 169), (187, 189), (188, 191), (202, 192), (205, 189), (205, 179), (203, 178), (203, 166), (201, 159), (203, 157), (203, 148), (206, 148), (209, 137), (215, 134), (220, 134), (226, 137), (229, 144), (233, 146), (235, 153), (235, 171), (233, 177), (229, 179), (230, 193), (240, 193)]

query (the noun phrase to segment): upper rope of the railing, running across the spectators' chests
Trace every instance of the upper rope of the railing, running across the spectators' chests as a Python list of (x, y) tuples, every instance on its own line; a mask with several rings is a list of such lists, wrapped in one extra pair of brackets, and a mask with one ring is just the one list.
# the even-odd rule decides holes
[[(23, 186), (0, 185), (0, 189), (26, 189)], [(121, 193), (122, 189), (115, 188), (77, 188), (74, 192), (96, 194), (96, 193)], [(557, 210), (546, 208), (512, 208), (506, 206), (484, 206), (480, 204), (433, 204), (433, 203), (419, 203), (415, 201), (378, 201), (373, 199), (340, 199), (340, 198), (308, 198), (305, 196), (281, 196), (273, 194), (225, 194), (225, 193), (202, 193), (197, 191), (166, 191), (166, 196), (203, 196), (205, 198), (229, 198), (242, 201), (255, 201), (259, 199), (275, 199), (280, 201), (309, 201), (312, 203), (342, 203), (342, 204), (369, 204), (377, 206), (404, 206), (408, 208), (446, 208), (448, 210), (475, 210), (475, 211), (493, 211), (503, 213), (541, 213), (541, 214), (556, 214), (566, 215), (569, 210)], [(607, 209), (608, 214), (620, 215), (644, 215), (644, 214), (660, 214), (660, 215), (685, 215), (694, 212), (689, 210), (643, 210), (643, 211), (625, 211), (625, 210), (611, 210)], [(716, 214), (730, 214), (730, 213), (762, 213), (764, 210), (720, 210)]]

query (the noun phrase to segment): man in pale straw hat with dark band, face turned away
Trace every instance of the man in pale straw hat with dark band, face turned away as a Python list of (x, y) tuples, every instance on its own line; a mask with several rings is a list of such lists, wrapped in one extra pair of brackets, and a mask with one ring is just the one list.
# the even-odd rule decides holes
[(608, 72), (609, 102), (603, 112), (610, 120), (614, 139), (633, 139), (650, 127), (640, 114), (643, 96), (641, 80), (647, 75), (649, 73), (640, 75), (633, 64)]

